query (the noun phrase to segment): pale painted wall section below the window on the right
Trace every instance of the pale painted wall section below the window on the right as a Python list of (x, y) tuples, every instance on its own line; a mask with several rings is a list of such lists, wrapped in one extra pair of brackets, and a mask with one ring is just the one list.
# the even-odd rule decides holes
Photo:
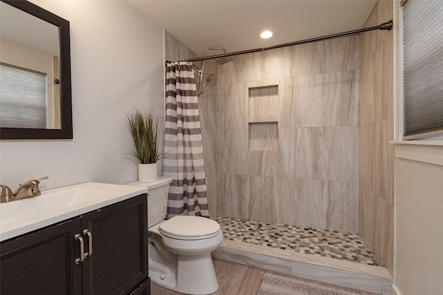
[(443, 294), (443, 144), (399, 142), (395, 156), (397, 294)]

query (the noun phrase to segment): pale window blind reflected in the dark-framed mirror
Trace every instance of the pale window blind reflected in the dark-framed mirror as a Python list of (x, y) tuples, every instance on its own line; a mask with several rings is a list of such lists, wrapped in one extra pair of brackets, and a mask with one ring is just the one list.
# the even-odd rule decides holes
[(46, 128), (46, 74), (0, 64), (0, 126)]

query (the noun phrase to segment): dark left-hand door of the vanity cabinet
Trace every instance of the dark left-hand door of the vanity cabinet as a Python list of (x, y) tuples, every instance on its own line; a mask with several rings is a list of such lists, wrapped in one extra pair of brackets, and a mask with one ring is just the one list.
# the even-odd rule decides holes
[(80, 294), (82, 269), (73, 249), (79, 229), (75, 218), (2, 242), (0, 293)]

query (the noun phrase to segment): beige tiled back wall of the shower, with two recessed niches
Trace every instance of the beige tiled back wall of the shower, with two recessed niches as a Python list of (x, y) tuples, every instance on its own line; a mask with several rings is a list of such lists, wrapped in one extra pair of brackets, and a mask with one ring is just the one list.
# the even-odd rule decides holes
[(359, 231), (359, 45), (352, 36), (206, 61), (213, 215)]

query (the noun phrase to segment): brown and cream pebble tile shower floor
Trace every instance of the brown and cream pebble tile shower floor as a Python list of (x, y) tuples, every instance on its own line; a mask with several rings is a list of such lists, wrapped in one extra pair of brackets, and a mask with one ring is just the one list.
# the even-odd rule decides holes
[(217, 222), (227, 240), (378, 266), (357, 234), (225, 217)]

